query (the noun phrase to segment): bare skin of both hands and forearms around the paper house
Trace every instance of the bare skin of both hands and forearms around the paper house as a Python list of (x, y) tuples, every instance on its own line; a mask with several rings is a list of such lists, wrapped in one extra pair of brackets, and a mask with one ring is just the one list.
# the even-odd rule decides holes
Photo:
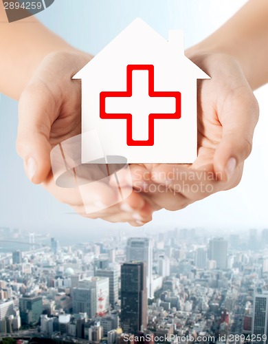
[[(268, 80), (267, 16), (267, 1), (251, 0), (222, 28), (186, 52), (211, 76), (198, 84), (196, 162), (133, 164), (131, 196), (89, 215), (76, 189), (54, 183), (49, 153), (59, 142), (80, 133), (80, 82), (71, 76), (92, 56), (74, 49), (33, 17), (1, 23), (0, 46), (6, 48), (0, 58), (0, 91), (19, 99), (17, 151), (30, 180), (41, 183), (81, 215), (133, 226), (149, 222), (160, 208), (176, 211), (236, 186), (258, 121), (252, 89)], [(0, 20), (6, 21), (2, 3)], [(99, 183), (91, 202), (105, 204), (115, 197), (112, 183)]]

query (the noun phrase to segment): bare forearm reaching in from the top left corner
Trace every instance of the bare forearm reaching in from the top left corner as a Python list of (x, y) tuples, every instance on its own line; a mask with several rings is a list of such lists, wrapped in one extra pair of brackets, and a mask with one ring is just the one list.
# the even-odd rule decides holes
[(34, 17), (8, 23), (0, 1), (0, 92), (18, 99), (50, 52), (74, 51)]

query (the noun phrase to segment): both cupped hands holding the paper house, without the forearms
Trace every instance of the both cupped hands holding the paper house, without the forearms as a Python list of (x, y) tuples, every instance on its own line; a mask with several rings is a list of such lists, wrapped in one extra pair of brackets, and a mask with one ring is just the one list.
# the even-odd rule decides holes
[[(36, 70), (19, 100), (17, 151), (28, 178), (42, 183), (58, 200), (78, 213), (110, 222), (142, 226), (154, 211), (177, 211), (217, 191), (236, 186), (252, 149), (258, 103), (241, 67), (225, 54), (188, 56), (210, 80), (198, 81), (198, 158), (192, 165), (131, 164), (133, 193), (103, 211), (85, 214), (78, 189), (56, 186), (50, 151), (81, 131), (80, 81), (71, 80), (91, 59), (82, 52), (49, 54)], [(109, 204), (113, 186), (98, 183), (92, 204)]]

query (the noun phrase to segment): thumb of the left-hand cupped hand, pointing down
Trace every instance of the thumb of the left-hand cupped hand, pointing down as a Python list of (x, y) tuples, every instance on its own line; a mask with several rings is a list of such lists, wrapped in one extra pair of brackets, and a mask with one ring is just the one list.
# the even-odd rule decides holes
[(43, 182), (51, 169), (49, 134), (52, 121), (49, 114), (54, 113), (54, 102), (50, 92), (43, 88), (28, 86), (19, 100), (16, 150), (23, 158), (27, 177), (34, 184)]

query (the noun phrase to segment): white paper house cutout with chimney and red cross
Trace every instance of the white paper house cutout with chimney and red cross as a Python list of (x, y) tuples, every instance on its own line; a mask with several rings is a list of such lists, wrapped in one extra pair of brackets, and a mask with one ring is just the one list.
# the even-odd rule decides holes
[(82, 85), (82, 163), (92, 162), (91, 130), (102, 162), (197, 158), (197, 79), (210, 77), (184, 55), (180, 30), (166, 41), (137, 18), (73, 78)]

